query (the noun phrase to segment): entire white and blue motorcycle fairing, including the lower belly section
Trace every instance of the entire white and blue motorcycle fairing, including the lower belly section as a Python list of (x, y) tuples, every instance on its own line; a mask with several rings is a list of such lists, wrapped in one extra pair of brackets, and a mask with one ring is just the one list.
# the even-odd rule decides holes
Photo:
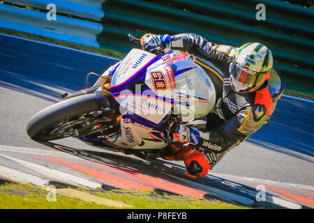
[(166, 131), (158, 125), (165, 125), (172, 107), (188, 122), (206, 116), (216, 100), (206, 72), (181, 52), (160, 57), (131, 50), (114, 72), (110, 89), (120, 109), (126, 109), (120, 110), (121, 135), (114, 142), (123, 148), (164, 148)]

